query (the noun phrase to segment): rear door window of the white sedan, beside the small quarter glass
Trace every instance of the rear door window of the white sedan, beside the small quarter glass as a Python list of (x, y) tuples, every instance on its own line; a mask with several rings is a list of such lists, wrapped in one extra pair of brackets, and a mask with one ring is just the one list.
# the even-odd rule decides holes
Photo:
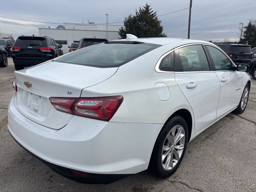
[(209, 63), (202, 45), (190, 45), (174, 51), (174, 71), (209, 70)]

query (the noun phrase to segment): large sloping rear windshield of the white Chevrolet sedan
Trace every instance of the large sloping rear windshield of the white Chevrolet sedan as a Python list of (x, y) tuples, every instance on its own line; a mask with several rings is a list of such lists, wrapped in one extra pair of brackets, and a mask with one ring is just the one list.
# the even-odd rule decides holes
[(76, 50), (54, 61), (100, 68), (118, 67), (158, 47), (158, 44), (138, 42), (106, 42)]

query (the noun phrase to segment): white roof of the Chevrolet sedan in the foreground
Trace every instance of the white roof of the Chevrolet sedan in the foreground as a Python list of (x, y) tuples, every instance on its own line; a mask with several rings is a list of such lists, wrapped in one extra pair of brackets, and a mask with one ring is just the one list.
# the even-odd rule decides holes
[(180, 42), (181, 44), (189, 44), (189, 43), (206, 43), (214, 45), (207, 41), (202, 40), (192, 40), (192, 39), (182, 39), (182, 38), (168, 38), (168, 37), (152, 37), (152, 38), (134, 38), (134, 39), (118, 39), (113, 41), (137, 41), (143, 43), (152, 43), (152, 44), (159, 44), (159, 45), (166, 45), (170, 43)]

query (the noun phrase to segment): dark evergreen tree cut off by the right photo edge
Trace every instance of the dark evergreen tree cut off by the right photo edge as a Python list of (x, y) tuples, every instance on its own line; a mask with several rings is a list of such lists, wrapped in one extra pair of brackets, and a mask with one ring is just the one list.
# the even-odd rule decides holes
[(256, 47), (256, 22), (250, 20), (247, 26), (244, 27), (244, 34), (240, 42)]

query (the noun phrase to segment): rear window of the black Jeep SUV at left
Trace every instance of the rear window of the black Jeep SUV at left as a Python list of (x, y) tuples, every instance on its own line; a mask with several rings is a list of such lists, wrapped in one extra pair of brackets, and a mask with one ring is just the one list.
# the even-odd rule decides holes
[(18, 37), (15, 46), (33, 46), (33, 45), (40, 45), (46, 46), (46, 39), (44, 37)]

